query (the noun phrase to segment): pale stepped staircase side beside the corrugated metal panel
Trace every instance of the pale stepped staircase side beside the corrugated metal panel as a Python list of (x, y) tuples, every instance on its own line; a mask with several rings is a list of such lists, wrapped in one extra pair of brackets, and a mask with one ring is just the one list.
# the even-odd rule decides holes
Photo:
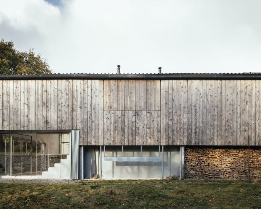
[(70, 179), (70, 156), (61, 159), (60, 163), (55, 163), (54, 167), (48, 167), (47, 171), (42, 171), (43, 179)]

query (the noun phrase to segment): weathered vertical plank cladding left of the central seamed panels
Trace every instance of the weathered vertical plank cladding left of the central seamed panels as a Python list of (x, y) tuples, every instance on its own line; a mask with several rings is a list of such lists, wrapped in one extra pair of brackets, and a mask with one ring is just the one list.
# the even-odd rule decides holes
[(0, 129), (79, 129), (81, 145), (102, 145), (103, 87), (101, 80), (0, 80)]

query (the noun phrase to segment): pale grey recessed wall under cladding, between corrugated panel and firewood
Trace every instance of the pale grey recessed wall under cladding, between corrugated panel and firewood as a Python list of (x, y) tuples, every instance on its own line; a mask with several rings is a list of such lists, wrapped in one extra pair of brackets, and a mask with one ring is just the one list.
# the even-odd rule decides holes
[[(100, 170), (99, 146), (95, 146), (97, 173)], [(162, 149), (162, 147), (161, 147)], [(106, 156), (121, 156), (121, 146), (106, 146)], [(140, 147), (124, 146), (124, 156), (139, 156)], [(94, 174), (94, 146), (84, 146), (84, 178), (90, 178), (90, 159), (93, 159), (92, 175)], [(142, 156), (158, 156), (157, 146), (143, 146)], [(180, 174), (180, 147), (164, 146), (164, 177)], [(135, 179), (162, 178), (162, 150), (159, 162), (104, 161), (102, 146), (102, 178), (103, 179)]]

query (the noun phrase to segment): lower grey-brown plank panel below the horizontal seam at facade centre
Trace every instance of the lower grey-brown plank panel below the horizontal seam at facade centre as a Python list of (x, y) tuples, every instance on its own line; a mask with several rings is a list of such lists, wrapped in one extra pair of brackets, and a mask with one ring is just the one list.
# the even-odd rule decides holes
[(104, 111), (104, 145), (157, 145), (158, 111)]

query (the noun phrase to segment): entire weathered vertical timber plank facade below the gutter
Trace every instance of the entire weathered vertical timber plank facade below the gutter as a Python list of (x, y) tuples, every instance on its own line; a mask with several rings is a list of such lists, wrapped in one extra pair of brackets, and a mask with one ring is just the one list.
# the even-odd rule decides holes
[(260, 80), (0, 80), (1, 130), (80, 145), (261, 145)]

